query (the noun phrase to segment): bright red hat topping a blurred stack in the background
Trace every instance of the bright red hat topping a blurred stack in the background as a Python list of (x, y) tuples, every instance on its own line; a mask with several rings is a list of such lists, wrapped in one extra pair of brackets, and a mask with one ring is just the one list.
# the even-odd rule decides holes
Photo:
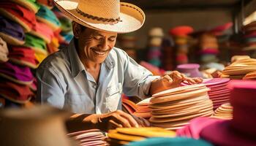
[(169, 34), (173, 36), (187, 36), (193, 31), (194, 29), (191, 26), (177, 26), (175, 28), (171, 28)]

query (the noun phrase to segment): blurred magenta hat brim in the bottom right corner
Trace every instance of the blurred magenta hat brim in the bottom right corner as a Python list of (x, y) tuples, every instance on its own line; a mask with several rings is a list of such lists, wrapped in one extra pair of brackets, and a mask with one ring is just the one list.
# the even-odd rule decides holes
[(214, 145), (256, 145), (256, 141), (246, 139), (243, 134), (237, 134), (230, 128), (230, 120), (216, 121), (200, 132), (200, 137)]

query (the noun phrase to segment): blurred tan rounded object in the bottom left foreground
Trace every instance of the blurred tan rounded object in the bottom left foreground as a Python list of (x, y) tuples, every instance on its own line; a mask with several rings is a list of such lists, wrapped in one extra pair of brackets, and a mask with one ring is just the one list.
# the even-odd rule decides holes
[(48, 106), (0, 111), (0, 145), (71, 146), (64, 128), (68, 113)]

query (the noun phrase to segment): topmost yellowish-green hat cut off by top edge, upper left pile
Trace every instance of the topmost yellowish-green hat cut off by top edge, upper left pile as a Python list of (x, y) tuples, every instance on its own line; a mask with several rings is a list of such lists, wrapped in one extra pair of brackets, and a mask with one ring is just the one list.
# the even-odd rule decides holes
[(20, 6), (26, 7), (26, 9), (31, 10), (34, 13), (37, 13), (38, 9), (40, 8), (39, 4), (36, 3), (36, 0), (10, 0)]

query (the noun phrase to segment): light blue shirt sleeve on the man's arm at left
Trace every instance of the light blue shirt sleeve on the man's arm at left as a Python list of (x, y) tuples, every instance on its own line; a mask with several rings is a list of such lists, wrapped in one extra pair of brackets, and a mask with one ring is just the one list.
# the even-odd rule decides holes
[(37, 69), (37, 102), (62, 109), (64, 107), (63, 87), (54, 69), (46, 66), (40, 66)]

